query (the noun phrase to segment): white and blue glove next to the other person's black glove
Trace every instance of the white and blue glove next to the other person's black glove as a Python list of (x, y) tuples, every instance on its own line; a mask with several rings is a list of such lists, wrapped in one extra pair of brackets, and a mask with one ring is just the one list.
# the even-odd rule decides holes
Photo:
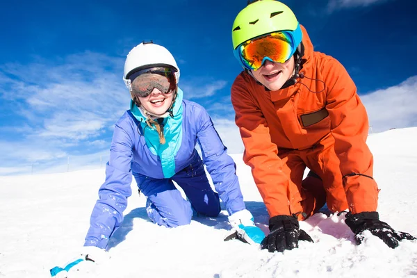
[(258, 245), (265, 238), (263, 231), (255, 226), (254, 217), (247, 209), (230, 215), (229, 223), (235, 231), (230, 236), (227, 236), (227, 238), (224, 238), (224, 241), (237, 238), (244, 243)]

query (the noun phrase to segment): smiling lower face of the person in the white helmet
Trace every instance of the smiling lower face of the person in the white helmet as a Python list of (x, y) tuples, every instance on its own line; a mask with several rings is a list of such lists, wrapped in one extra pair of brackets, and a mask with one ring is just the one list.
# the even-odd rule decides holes
[(163, 94), (160, 90), (154, 88), (147, 97), (138, 97), (140, 104), (145, 110), (155, 115), (163, 115), (170, 108), (174, 92)]

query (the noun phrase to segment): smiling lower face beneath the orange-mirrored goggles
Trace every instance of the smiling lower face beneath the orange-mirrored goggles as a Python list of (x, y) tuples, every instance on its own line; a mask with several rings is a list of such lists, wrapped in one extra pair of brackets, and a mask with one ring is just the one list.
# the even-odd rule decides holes
[(279, 90), (294, 74), (294, 57), (286, 60), (285, 63), (266, 60), (259, 70), (251, 70), (251, 72), (254, 78), (269, 90)]

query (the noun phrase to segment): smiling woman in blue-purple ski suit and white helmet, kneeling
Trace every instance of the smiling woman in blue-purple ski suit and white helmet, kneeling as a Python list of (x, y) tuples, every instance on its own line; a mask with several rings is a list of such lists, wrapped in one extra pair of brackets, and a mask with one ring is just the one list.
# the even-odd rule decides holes
[[(172, 83), (176, 95), (163, 116), (146, 111), (132, 90), (133, 79), (138, 77), (129, 79), (129, 76), (141, 76), (138, 70), (155, 65), (170, 67), (175, 72)], [(253, 224), (252, 214), (245, 209), (236, 165), (227, 154), (211, 118), (202, 106), (183, 99), (183, 92), (177, 87), (178, 79), (177, 63), (164, 47), (142, 43), (127, 56), (124, 81), (133, 100), (129, 111), (115, 124), (106, 181), (99, 189), (85, 246), (106, 248), (109, 238), (122, 224), (127, 198), (131, 195), (132, 176), (140, 192), (147, 197), (149, 218), (158, 225), (189, 224), (193, 210), (199, 215), (215, 217), (220, 213), (222, 199), (238, 238), (260, 243), (264, 237)], [(155, 88), (159, 88), (158, 85)], [(197, 143), (202, 158), (195, 149)], [(208, 183), (204, 165), (217, 193)], [(173, 181), (183, 189), (188, 200), (183, 199)]]

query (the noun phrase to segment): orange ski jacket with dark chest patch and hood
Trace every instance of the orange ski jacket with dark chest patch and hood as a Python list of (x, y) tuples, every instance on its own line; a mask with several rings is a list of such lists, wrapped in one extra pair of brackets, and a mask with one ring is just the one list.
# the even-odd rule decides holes
[(325, 138), (330, 134), (340, 161), (336, 171), (341, 171), (345, 191), (340, 186), (344, 201), (334, 202), (345, 204), (347, 200), (352, 213), (376, 211), (379, 189), (372, 178), (373, 155), (366, 145), (365, 107), (343, 65), (331, 56), (313, 51), (304, 26), (302, 33), (304, 56), (300, 76), (304, 78), (297, 78), (295, 85), (266, 90), (245, 71), (232, 85), (231, 101), (245, 145), (243, 160), (252, 167), (270, 217), (289, 215), (291, 201), (283, 184), (288, 184), (289, 177), (281, 170), (279, 149), (308, 150), (327, 144), (329, 140)]

